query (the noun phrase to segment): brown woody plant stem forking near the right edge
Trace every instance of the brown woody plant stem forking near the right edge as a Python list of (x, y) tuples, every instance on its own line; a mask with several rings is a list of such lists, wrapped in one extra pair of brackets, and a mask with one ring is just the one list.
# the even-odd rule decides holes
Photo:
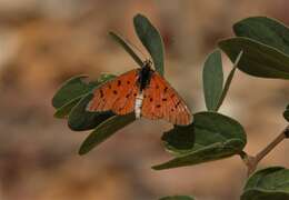
[(271, 151), (278, 146), (283, 139), (289, 137), (289, 126), (286, 127), (286, 129), (276, 138), (273, 141), (271, 141), (266, 148), (263, 148), (259, 153), (257, 153), (255, 157), (249, 156), (246, 152), (241, 152), (240, 157), (243, 160), (245, 164), (248, 168), (248, 177), (256, 170), (258, 163)]

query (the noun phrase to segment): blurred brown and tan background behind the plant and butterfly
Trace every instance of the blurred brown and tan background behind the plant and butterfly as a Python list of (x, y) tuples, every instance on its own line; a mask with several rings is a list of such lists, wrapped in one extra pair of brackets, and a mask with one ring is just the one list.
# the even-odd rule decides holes
[[(176, 193), (199, 200), (238, 199), (246, 168), (238, 157), (200, 166), (153, 171), (170, 157), (161, 133), (170, 124), (140, 120), (79, 157), (88, 132), (72, 132), (54, 119), (51, 98), (71, 76), (121, 73), (136, 68), (108, 37), (114, 30), (141, 48), (132, 17), (143, 13), (166, 42), (166, 77), (190, 108), (205, 109), (201, 71), (216, 42), (231, 37), (233, 22), (270, 16), (289, 24), (288, 0), (0, 0), (0, 199), (150, 200)], [(141, 48), (143, 52), (143, 48)], [(226, 73), (230, 62), (223, 57)], [(279, 133), (288, 81), (238, 72), (221, 111), (248, 132), (256, 153)], [(260, 167), (289, 167), (288, 142)]]

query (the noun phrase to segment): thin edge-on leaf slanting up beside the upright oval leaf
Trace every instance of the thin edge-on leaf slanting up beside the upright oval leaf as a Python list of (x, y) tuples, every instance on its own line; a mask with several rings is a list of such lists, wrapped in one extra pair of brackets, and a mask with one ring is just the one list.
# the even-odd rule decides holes
[(235, 71), (237, 69), (237, 66), (238, 66), (241, 57), (242, 57), (242, 51), (238, 54), (237, 59), (235, 60), (232, 69), (231, 69), (230, 73), (229, 73), (229, 76), (228, 76), (228, 78), (226, 80), (226, 83), (225, 83), (221, 97), (220, 97), (220, 99), (218, 101), (218, 104), (217, 104), (217, 108), (216, 108), (217, 111), (220, 109), (220, 107), (221, 107), (221, 104), (222, 104), (222, 102), (223, 102), (223, 100), (225, 100), (225, 98), (226, 98), (226, 96), (227, 96), (227, 93), (228, 93), (228, 91), (230, 89)]

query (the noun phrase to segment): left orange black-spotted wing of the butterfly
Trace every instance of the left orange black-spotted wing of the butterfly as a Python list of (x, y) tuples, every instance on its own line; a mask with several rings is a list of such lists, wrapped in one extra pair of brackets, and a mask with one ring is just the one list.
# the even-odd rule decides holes
[(108, 111), (127, 114), (133, 111), (138, 93), (138, 70), (128, 71), (93, 91), (88, 111)]

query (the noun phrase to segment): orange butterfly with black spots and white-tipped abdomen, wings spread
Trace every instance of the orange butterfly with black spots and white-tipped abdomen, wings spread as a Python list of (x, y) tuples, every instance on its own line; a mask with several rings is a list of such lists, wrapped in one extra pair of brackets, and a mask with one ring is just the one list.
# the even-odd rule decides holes
[(155, 70), (151, 61), (141, 69), (128, 71), (106, 82), (93, 91), (88, 111), (108, 111), (136, 118), (165, 119), (173, 124), (186, 126), (192, 116), (176, 90)]

